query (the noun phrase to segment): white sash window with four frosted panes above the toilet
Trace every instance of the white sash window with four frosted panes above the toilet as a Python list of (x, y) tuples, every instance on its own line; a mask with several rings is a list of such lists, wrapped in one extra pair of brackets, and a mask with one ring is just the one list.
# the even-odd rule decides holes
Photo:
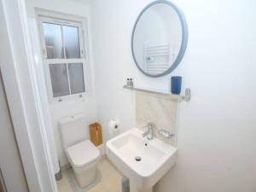
[[(50, 102), (80, 98), (85, 92), (83, 23), (78, 20), (39, 16)], [(49, 67), (49, 68), (48, 68)], [(61, 98), (58, 98), (61, 97)]]

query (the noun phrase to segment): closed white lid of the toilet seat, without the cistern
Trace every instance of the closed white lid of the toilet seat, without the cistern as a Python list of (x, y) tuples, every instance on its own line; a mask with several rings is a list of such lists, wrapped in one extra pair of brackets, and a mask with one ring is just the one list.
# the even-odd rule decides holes
[(73, 166), (86, 166), (96, 160), (100, 152), (89, 140), (75, 144), (67, 148), (67, 155)]

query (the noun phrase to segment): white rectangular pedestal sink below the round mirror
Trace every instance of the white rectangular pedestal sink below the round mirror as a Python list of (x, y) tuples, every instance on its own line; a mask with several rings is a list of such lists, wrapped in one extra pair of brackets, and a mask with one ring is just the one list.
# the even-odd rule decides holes
[(107, 142), (108, 158), (129, 177), (131, 192), (152, 192), (177, 157), (177, 148), (155, 137), (148, 140), (142, 134), (134, 128)]

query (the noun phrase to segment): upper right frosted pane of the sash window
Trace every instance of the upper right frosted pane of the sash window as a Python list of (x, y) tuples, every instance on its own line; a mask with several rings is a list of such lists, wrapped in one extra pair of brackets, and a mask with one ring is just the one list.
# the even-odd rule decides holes
[(66, 58), (80, 58), (79, 28), (76, 26), (62, 26), (62, 30)]

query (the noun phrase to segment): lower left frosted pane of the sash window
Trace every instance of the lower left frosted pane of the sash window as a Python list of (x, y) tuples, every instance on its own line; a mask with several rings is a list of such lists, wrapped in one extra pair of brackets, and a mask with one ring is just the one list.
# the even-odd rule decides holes
[(49, 64), (53, 96), (69, 95), (67, 64)]

